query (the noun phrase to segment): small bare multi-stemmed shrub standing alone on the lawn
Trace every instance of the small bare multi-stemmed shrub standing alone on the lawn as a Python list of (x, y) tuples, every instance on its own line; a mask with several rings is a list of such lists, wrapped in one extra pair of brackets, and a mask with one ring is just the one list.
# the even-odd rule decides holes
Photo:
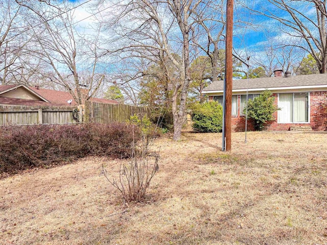
[(102, 174), (111, 185), (120, 191), (126, 202), (144, 201), (150, 182), (159, 170), (159, 152), (149, 153), (149, 144), (152, 142), (154, 134), (148, 120), (148, 118), (143, 117), (143, 119), (137, 121), (136, 125), (133, 124), (135, 129), (141, 128), (141, 142), (136, 144), (133, 130), (132, 152), (128, 161), (121, 163), (119, 178), (110, 179), (108, 172), (102, 166)]

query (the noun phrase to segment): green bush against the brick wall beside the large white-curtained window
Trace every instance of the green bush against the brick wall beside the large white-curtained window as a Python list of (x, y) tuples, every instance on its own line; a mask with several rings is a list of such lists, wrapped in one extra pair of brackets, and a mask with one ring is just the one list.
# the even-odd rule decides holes
[[(280, 109), (274, 105), (274, 101), (275, 97), (269, 90), (248, 101), (247, 116), (253, 120), (255, 130), (263, 130), (268, 121), (275, 119), (272, 114)], [(243, 113), (246, 114), (246, 107)]]

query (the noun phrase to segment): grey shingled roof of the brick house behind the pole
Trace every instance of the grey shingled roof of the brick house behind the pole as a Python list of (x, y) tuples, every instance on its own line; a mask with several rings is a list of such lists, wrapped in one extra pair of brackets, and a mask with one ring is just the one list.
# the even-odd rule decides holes
[[(233, 80), (233, 90), (236, 89), (276, 89), (298, 86), (327, 86), (327, 74), (301, 75), (291, 77), (271, 77), (271, 78), (253, 78)], [(203, 89), (203, 92), (222, 91), (224, 89), (223, 81), (216, 81)]]

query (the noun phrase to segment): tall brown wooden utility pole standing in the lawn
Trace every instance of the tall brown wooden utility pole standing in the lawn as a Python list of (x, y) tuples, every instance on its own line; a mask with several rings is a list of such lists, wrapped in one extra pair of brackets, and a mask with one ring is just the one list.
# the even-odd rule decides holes
[(233, 83), (233, 0), (226, 5), (226, 39), (225, 39), (225, 84), (224, 84), (224, 115), (223, 115), (223, 151), (231, 150), (231, 97)]

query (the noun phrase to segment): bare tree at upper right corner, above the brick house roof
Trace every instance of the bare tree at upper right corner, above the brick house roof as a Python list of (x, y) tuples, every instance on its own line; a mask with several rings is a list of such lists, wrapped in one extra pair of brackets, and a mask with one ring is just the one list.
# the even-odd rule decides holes
[[(252, 11), (281, 23), (288, 36), (298, 39), (297, 44), (317, 62), (320, 73), (326, 73), (327, 62), (327, 9), (326, 0), (268, 0), (269, 8), (262, 6)], [(248, 8), (246, 5), (244, 7)], [(313, 10), (313, 11), (312, 11)]]

